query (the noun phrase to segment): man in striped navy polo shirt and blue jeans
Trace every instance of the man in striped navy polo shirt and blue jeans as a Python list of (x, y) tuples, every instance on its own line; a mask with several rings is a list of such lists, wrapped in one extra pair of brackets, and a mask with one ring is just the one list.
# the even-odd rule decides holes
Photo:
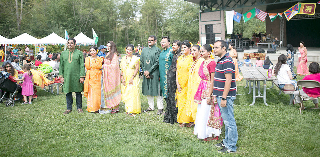
[(226, 137), (218, 144), (219, 153), (235, 153), (238, 131), (233, 114), (233, 101), (236, 99), (236, 71), (233, 59), (227, 53), (226, 41), (218, 40), (213, 44), (213, 53), (220, 57), (217, 61), (213, 80), (213, 96), (217, 97), (222, 120), (226, 126)]

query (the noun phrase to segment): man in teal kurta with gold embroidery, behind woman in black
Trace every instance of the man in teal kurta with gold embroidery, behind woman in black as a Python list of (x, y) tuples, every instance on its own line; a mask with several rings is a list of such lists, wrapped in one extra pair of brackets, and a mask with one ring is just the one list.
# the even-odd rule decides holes
[(167, 71), (172, 63), (172, 47), (170, 46), (170, 38), (168, 36), (163, 36), (161, 38), (161, 47), (163, 50), (159, 56), (159, 74), (160, 74), (160, 87), (164, 100), (167, 102), (168, 98), (168, 86), (167, 86)]

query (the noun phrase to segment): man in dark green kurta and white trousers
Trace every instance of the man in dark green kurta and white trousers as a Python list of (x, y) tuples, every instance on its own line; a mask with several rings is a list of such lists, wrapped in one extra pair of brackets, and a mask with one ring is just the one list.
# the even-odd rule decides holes
[(149, 46), (141, 51), (140, 67), (144, 74), (142, 81), (142, 94), (147, 95), (149, 104), (149, 108), (142, 112), (148, 112), (155, 109), (153, 96), (156, 96), (158, 106), (157, 114), (159, 114), (163, 111), (163, 98), (159, 83), (159, 56), (161, 50), (156, 47), (156, 41), (157, 37), (155, 35), (149, 36)]

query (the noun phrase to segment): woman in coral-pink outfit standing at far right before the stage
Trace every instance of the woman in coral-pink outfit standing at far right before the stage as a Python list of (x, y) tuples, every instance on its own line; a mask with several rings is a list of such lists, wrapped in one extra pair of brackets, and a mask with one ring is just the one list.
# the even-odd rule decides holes
[(300, 47), (298, 48), (299, 52), (301, 54), (300, 57), (298, 57), (298, 70), (297, 74), (298, 75), (308, 75), (309, 70), (308, 70), (308, 57), (307, 57), (307, 48), (304, 46), (304, 42), (300, 42)]

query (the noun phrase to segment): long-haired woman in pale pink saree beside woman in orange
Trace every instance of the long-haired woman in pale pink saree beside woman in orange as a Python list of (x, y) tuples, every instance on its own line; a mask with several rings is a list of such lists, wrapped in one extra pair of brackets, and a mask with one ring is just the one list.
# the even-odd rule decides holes
[(102, 65), (100, 114), (118, 113), (121, 102), (120, 65), (113, 41), (108, 42), (107, 51)]

